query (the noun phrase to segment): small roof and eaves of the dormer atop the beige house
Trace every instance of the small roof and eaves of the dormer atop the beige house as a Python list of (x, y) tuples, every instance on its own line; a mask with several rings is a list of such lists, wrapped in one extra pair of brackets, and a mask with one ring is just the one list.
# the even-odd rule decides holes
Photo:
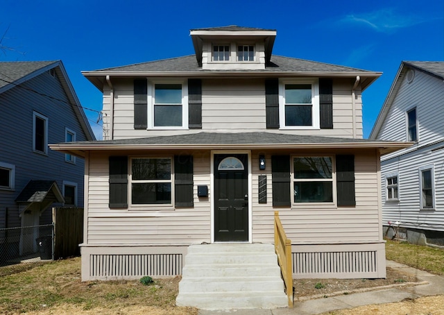
[(196, 60), (199, 66), (202, 66), (202, 50), (203, 42), (205, 40), (220, 41), (220, 40), (232, 40), (235, 36), (236, 41), (243, 40), (263, 40), (265, 45), (265, 60), (269, 62), (271, 59), (271, 53), (273, 51), (273, 45), (276, 37), (276, 30), (263, 29), (263, 28), (250, 28), (241, 26), (222, 26), (214, 28), (196, 28), (189, 31), (191, 40), (193, 41), (194, 51), (196, 51)]

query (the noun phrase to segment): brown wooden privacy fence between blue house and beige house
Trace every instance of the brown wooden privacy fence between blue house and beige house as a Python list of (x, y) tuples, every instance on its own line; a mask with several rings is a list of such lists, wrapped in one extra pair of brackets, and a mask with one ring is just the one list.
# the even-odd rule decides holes
[(80, 256), (83, 243), (83, 208), (53, 207), (54, 259)]

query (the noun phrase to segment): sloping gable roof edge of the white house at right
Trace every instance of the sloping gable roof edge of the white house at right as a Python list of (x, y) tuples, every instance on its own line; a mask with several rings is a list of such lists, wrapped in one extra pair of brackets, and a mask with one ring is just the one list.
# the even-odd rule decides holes
[(407, 74), (409, 69), (416, 69), (428, 74), (429, 76), (434, 76), (435, 78), (444, 80), (443, 61), (402, 61), (390, 90), (388, 90), (388, 94), (384, 100), (381, 110), (379, 111), (372, 131), (370, 132), (369, 139), (377, 139), (388, 112), (390, 112), (391, 105), (398, 94), (398, 91), (400, 90), (402, 80), (404, 80), (404, 76)]

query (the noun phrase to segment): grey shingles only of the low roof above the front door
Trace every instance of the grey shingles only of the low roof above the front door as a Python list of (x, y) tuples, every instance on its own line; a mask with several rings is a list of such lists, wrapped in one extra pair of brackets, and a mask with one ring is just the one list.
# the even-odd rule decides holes
[(133, 139), (99, 140), (95, 142), (68, 142), (67, 144), (329, 144), (373, 143), (368, 139), (288, 135), (282, 133), (193, 133)]

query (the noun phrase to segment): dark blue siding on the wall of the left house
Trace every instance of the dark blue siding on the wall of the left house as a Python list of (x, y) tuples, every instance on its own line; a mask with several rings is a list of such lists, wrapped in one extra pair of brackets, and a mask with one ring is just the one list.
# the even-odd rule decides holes
[[(31, 90), (37, 91), (38, 94)], [(8, 227), (20, 225), (15, 198), (29, 180), (56, 180), (60, 191), (63, 180), (76, 182), (78, 206), (83, 206), (84, 160), (76, 157), (76, 164), (71, 164), (65, 162), (65, 154), (60, 152), (49, 149), (47, 155), (33, 152), (33, 111), (49, 119), (49, 144), (65, 142), (65, 128), (76, 133), (77, 141), (86, 140), (68, 102), (60, 81), (48, 73), (40, 74), (19, 87), (13, 87), (0, 94), (0, 124), (3, 126), (0, 136), (0, 162), (15, 165), (15, 190), (0, 190), (0, 213), (8, 207)], [(44, 214), (40, 220), (45, 221), (46, 216)], [(5, 223), (3, 222), (3, 225)]]

